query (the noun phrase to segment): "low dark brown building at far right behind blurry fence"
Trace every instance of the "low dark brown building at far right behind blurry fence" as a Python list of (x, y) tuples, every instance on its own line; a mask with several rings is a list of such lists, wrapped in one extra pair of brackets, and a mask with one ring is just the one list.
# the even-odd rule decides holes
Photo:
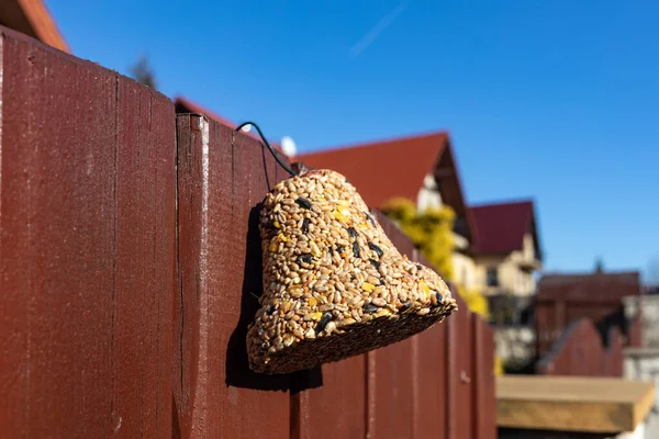
[(543, 275), (535, 297), (537, 354), (551, 349), (566, 328), (580, 318), (590, 318), (604, 342), (608, 329), (617, 327), (625, 337), (625, 346), (639, 346), (640, 323), (626, 318), (623, 300), (641, 294), (638, 271)]

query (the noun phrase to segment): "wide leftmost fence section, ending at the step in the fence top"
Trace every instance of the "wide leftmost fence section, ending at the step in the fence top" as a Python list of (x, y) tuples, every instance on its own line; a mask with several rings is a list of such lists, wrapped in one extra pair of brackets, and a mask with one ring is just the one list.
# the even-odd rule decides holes
[(0, 32), (2, 434), (170, 436), (174, 105)]

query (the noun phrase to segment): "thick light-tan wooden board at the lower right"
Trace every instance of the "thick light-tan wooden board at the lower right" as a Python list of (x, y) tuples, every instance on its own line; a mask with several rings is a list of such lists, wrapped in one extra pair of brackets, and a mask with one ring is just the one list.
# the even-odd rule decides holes
[(611, 378), (499, 376), (500, 427), (633, 431), (655, 401), (654, 383)]

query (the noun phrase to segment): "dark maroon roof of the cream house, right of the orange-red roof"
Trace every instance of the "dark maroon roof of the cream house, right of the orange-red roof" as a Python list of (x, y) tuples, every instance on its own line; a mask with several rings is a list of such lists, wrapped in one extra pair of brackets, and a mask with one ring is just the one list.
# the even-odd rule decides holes
[(536, 243), (536, 254), (540, 257), (533, 201), (482, 204), (470, 210), (478, 233), (478, 254), (501, 255), (521, 250), (524, 235), (530, 233)]

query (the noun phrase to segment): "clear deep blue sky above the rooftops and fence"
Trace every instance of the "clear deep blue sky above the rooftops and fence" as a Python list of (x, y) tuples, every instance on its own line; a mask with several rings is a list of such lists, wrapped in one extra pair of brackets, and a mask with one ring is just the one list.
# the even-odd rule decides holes
[(77, 56), (147, 54), (165, 94), (301, 153), (448, 130), (470, 203), (535, 199), (548, 270), (659, 281), (657, 1), (47, 4)]

